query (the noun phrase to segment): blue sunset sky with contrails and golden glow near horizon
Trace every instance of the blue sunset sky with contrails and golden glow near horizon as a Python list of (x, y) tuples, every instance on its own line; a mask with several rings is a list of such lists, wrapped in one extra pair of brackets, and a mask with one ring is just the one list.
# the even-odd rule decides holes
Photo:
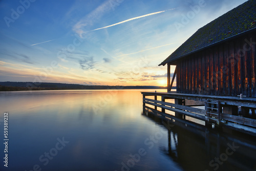
[(159, 63), (244, 2), (2, 0), (0, 81), (166, 86)]

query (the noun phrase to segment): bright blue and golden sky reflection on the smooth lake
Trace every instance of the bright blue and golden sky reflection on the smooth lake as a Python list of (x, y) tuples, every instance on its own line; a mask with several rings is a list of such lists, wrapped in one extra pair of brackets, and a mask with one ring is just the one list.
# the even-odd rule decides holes
[[(145, 148), (147, 154), (131, 170), (181, 170), (158, 151), (167, 131), (154, 148), (144, 144), (161, 126), (140, 115), (140, 91), (0, 92), (1, 113), (9, 112), (10, 120), (8, 169), (122, 170), (131, 154)], [(69, 143), (45, 165), (40, 156), (51, 154), (62, 137)]]

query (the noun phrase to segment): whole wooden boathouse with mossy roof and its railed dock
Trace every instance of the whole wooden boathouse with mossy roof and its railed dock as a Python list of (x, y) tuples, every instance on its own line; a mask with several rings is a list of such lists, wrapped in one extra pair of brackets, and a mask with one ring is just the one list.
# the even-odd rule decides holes
[[(167, 92), (142, 92), (143, 111), (256, 136), (255, 38), (256, 1), (249, 0), (199, 29), (160, 63), (167, 65)], [(172, 81), (170, 66), (176, 66)]]

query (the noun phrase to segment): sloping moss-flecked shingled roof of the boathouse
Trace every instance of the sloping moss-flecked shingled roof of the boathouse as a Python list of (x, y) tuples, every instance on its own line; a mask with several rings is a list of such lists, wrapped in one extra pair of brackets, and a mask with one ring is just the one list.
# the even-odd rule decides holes
[(256, 0), (249, 0), (199, 29), (159, 66), (253, 29), (256, 29)]

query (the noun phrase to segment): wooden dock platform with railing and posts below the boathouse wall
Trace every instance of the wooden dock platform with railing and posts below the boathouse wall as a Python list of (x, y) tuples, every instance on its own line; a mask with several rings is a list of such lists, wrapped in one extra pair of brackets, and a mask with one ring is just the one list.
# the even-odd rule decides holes
[[(199, 124), (197, 120), (200, 120), (202, 121), (200, 126), (218, 127), (221, 130), (229, 128), (256, 136), (256, 98), (254, 97), (176, 92), (141, 93), (143, 95), (143, 112), (150, 110), (172, 120), (186, 120), (189, 124)], [(159, 98), (161, 100), (157, 100)], [(166, 99), (174, 100), (167, 102)], [(188, 118), (194, 118), (195, 121)]]

